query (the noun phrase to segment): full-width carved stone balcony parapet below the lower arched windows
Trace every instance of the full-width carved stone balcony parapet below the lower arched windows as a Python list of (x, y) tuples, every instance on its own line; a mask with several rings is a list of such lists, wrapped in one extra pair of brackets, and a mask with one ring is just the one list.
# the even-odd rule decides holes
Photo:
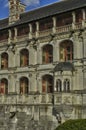
[(67, 104), (67, 105), (86, 105), (86, 94), (73, 93), (47, 93), (32, 95), (0, 95), (0, 105), (21, 104), (21, 105), (37, 105), (37, 104)]

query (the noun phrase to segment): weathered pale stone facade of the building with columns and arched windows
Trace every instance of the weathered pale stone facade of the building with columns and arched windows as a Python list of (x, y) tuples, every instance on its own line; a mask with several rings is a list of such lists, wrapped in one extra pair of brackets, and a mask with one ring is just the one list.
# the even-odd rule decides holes
[[(73, 22), (65, 26), (57, 27), (52, 16), (53, 27), (47, 30), (39, 30), (39, 21), (35, 32), (27, 24), (26, 35), (18, 36), (18, 26), (8, 28), (8, 39), (0, 41), (1, 130), (53, 130), (66, 120), (86, 118), (86, 10), (80, 10), (83, 19), (77, 24), (72, 10)], [(72, 48), (69, 60), (60, 56), (66, 43), (69, 52)], [(52, 48), (49, 61), (43, 60), (45, 46)], [(29, 52), (28, 65), (21, 62), (22, 50)], [(8, 67), (3, 69), (4, 53)]]

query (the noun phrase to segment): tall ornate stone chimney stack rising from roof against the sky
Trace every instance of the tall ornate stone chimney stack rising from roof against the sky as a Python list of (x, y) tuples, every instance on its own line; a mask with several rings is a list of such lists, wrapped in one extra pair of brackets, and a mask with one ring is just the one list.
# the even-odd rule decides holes
[(20, 19), (20, 14), (25, 11), (25, 7), (20, 0), (9, 0), (9, 24)]

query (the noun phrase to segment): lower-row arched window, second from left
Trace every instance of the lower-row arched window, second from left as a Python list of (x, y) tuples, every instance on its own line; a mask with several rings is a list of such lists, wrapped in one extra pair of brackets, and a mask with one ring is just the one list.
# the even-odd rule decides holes
[(28, 94), (28, 78), (22, 77), (20, 78), (20, 94)]

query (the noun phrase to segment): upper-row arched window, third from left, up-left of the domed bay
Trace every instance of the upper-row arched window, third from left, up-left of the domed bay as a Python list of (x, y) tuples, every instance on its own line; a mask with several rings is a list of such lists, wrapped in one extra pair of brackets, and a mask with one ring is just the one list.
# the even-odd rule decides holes
[(42, 62), (51, 63), (53, 62), (53, 47), (52, 45), (45, 45), (42, 50)]

